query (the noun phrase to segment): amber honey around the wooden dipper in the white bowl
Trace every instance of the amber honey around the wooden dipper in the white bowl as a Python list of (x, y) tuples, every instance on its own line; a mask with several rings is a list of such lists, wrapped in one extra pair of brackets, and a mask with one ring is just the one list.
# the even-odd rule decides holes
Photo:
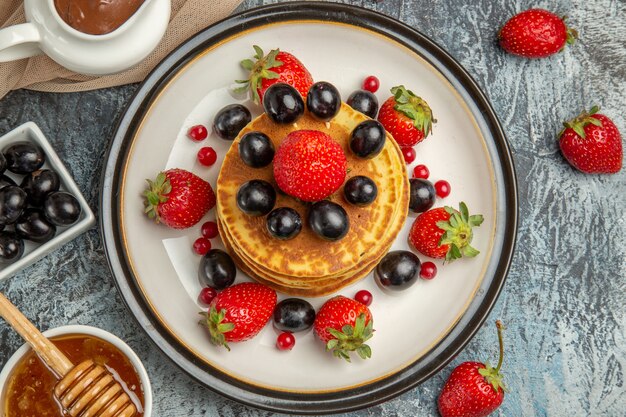
[[(143, 416), (144, 395), (139, 375), (130, 360), (111, 343), (83, 334), (51, 337), (72, 363), (92, 359), (106, 368), (129, 395), (136, 416)], [(5, 417), (66, 417), (54, 397), (58, 380), (31, 350), (13, 369), (4, 392)]]

